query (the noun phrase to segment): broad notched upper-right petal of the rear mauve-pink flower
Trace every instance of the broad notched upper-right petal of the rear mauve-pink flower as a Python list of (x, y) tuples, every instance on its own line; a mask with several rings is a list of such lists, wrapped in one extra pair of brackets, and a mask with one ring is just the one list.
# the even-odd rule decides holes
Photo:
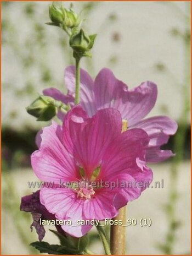
[(146, 81), (138, 87), (128, 89), (127, 85), (116, 79), (108, 68), (103, 68), (94, 82), (97, 108), (114, 107), (131, 126), (148, 115), (157, 98), (156, 84)]

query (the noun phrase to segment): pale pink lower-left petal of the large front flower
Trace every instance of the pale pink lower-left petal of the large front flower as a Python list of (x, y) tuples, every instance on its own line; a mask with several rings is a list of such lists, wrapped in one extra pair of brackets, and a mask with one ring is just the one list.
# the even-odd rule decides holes
[(48, 189), (40, 192), (41, 203), (50, 213), (55, 214), (58, 220), (71, 220), (72, 225), (61, 227), (71, 236), (81, 237), (85, 235), (92, 225), (78, 225), (78, 220), (86, 220), (83, 216), (83, 199), (77, 199), (77, 193), (69, 188)]

